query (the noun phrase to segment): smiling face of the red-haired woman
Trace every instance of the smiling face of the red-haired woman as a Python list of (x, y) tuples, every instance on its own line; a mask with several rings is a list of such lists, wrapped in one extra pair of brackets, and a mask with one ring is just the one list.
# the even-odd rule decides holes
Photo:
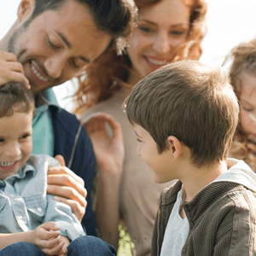
[(182, 0), (162, 0), (139, 9), (128, 55), (140, 78), (172, 60), (173, 49), (185, 42), (189, 32), (189, 15)]

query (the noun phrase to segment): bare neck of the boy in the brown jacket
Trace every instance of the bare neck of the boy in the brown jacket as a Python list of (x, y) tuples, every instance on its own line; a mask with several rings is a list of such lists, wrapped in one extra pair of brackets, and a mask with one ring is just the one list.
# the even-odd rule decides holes
[[(189, 172), (183, 172), (183, 177), (180, 178), (186, 193), (185, 201), (191, 201), (201, 189), (227, 171), (228, 167), (226, 161), (219, 161), (211, 166), (202, 166), (200, 168), (189, 166), (188, 169)], [(188, 171), (188, 169), (184, 170)]]

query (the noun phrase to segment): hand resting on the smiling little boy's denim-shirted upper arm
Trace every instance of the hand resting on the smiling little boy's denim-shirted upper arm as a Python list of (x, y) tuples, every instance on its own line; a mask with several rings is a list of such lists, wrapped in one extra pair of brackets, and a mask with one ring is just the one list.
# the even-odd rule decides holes
[(61, 155), (56, 155), (55, 159), (59, 160), (61, 166), (48, 169), (47, 193), (57, 195), (54, 197), (55, 201), (61, 201), (70, 206), (81, 222), (87, 207), (84, 180), (66, 167)]

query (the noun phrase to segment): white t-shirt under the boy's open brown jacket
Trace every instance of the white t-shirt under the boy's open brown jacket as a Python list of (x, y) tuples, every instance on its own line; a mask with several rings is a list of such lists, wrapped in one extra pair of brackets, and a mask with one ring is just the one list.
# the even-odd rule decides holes
[(182, 190), (177, 193), (177, 201), (166, 226), (164, 241), (160, 256), (180, 256), (182, 248), (189, 234), (188, 218), (181, 218), (179, 208), (182, 201)]

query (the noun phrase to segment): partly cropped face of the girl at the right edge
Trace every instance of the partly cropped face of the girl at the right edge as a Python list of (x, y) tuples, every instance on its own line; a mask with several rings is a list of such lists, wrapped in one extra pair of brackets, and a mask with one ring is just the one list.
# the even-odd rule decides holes
[(256, 136), (256, 76), (244, 74), (240, 103), (241, 126), (247, 134)]

